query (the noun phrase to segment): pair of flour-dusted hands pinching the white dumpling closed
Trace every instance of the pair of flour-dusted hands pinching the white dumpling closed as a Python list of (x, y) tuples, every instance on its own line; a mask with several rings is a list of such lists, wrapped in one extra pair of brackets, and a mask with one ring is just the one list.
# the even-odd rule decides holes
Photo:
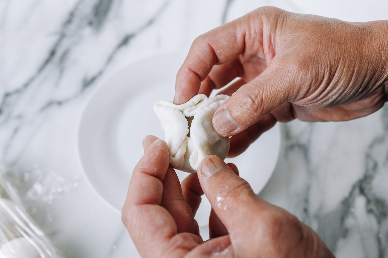
[[(260, 8), (194, 41), (174, 102), (241, 78), (221, 92), (233, 95), (213, 116), (215, 131), (232, 136), (229, 157), (276, 121), (366, 116), (386, 101), (387, 34), (386, 21), (350, 23)], [(144, 147), (122, 213), (142, 256), (333, 257), (309, 227), (256, 196), (235, 166), (206, 157), (198, 174), (180, 185), (166, 144), (146, 137)], [(206, 242), (194, 220), (203, 193), (213, 207)]]

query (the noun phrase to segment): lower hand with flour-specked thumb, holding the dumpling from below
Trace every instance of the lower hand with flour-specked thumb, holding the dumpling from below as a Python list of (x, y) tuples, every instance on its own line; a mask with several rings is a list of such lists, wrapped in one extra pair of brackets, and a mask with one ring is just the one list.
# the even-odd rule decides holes
[[(181, 186), (166, 143), (148, 136), (143, 144), (122, 210), (142, 257), (334, 257), (312, 229), (255, 195), (233, 164), (207, 156)], [(208, 241), (194, 220), (203, 193), (213, 207)]]

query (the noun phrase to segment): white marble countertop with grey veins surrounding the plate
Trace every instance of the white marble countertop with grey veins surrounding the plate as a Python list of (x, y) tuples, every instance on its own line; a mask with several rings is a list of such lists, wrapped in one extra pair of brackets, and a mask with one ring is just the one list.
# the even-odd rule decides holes
[[(199, 34), (262, 5), (388, 19), (382, 0), (0, 1), (0, 161), (77, 182), (33, 213), (65, 257), (138, 257), (120, 216), (80, 177), (77, 122), (95, 86), (133, 60), (187, 52)], [(282, 125), (261, 195), (315, 229), (338, 258), (388, 257), (387, 137), (388, 106), (349, 122)]]

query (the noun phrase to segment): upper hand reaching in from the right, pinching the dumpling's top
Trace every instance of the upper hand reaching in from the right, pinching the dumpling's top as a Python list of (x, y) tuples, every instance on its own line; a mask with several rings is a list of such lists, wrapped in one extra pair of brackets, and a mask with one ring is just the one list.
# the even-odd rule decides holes
[(235, 94), (213, 116), (219, 135), (234, 135), (230, 156), (276, 121), (366, 116), (386, 101), (387, 34), (387, 21), (344, 22), (262, 7), (194, 41), (177, 74), (174, 102), (241, 77), (221, 92)]

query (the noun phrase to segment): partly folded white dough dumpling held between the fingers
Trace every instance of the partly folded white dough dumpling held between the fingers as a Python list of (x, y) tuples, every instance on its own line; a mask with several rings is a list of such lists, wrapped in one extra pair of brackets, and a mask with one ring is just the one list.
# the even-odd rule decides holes
[[(211, 119), (216, 109), (228, 98), (227, 95), (217, 95), (208, 99), (206, 95), (198, 94), (181, 105), (166, 100), (154, 105), (154, 112), (165, 131), (172, 167), (196, 173), (198, 164), (206, 155), (226, 158), (229, 137), (221, 137), (214, 132)], [(189, 130), (188, 120), (191, 117)]]

